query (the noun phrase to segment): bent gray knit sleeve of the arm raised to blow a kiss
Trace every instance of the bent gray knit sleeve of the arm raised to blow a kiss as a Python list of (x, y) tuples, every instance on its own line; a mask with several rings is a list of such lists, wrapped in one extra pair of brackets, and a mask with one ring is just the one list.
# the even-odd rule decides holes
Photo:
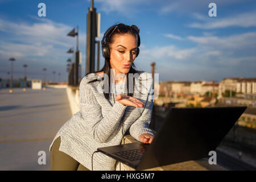
[(86, 78), (83, 78), (80, 83), (80, 107), (85, 132), (97, 142), (104, 143), (118, 127), (127, 106), (115, 102), (108, 115), (102, 117), (101, 106)]

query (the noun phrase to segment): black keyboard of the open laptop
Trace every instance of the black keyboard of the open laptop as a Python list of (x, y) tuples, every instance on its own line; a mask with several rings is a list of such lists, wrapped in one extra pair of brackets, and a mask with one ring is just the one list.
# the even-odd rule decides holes
[(142, 159), (142, 156), (144, 155), (145, 152), (146, 152), (146, 148), (140, 148), (136, 150), (116, 152), (114, 154), (121, 156), (122, 158), (125, 158), (127, 160), (133, 161), (133, 160)]

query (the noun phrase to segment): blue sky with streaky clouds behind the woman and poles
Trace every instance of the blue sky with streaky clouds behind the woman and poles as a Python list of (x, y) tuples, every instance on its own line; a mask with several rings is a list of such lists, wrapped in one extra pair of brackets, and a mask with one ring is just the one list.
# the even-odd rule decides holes
[[(46, 4), (46, 17), (38, 17), (38, 4)], [(209, 3), (217, 16), (209, 17)], [(0, 0), (0, 77), (7, 78), (10, 57), (15, 57), (14, 78), (53, 80), (52, 72), (67, 81), (67, 50), (76, 39), (67, 34), (79, 26), (82, 76), (85, 75), (86, 14), (90, 1)], [(256, 1), (95, 0), (101, 14), (101, 40), (115, 23), (140, 28), (139, 70), (151, 72), (156, 63), (159, 80), (214, 80), (256, 77)], [(104, 58), (100, 57), (102, 67)], [(56, 76), (56, 81), (59, 78)]]

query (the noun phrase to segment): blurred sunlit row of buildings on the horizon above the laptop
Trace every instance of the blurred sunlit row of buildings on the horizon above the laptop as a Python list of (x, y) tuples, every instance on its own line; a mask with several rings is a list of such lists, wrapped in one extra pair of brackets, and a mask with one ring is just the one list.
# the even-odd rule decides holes
[[(241, 104), (256, 107), (256, 78), (224, 78), (220, 83), (203, 80), (194, 82), (164, 81), (159, 82), (159, 96), (190, 98), (189, 101), (191, 102), (189, 104), (191, 104), (191, 106), (196, 106), (199, 102), (215, 104), (215, 102), (221, 98), (235, 97), (240, 99), (243, 98), (243, 101), (226, 101), (226, 104)], [(196, 97), (201, 98), (196, 100)], [(215, 102), (209, 100), (209, 97)], [(202, 106), (205, 107), (209, 104), (203, 104)]]

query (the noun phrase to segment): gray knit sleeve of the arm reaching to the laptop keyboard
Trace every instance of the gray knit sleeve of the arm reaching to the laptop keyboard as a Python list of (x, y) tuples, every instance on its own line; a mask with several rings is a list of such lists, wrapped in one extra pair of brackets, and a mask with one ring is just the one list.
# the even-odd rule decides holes
[(146, 77), (143, 77), (142, 80), (142, 88), (147, 90), (147, 100), (144, 106), (144, 110), (141, 116), (130, 126), (130, 134), (133, 138), (139, 140), (139, 135), (143, 133), (150, 133), (154, 136), (155, 131), (149, 129), (151, 116), (152, 116), (152, 109), (154, 105), (154, 79), (152, 78), (151, 74), (145, 74)]

